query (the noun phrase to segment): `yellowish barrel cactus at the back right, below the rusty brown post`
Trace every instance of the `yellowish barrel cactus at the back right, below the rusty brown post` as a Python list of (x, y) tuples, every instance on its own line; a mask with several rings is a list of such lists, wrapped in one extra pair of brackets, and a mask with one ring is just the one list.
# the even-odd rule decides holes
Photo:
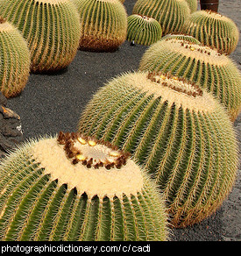
[(230, 18), (215, 11), (195, 11), (186, 20), (182, 32), (224, 54), (232, 53), (239, 39), (237, 25)]

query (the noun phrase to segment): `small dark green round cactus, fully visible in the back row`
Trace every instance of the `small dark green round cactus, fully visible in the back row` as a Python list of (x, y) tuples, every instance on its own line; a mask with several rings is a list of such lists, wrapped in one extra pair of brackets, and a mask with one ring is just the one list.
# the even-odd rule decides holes
[(127, 40), (150, 46), (161, 39), (161, 26), (154, 18), (133, 14), (127, 18)]

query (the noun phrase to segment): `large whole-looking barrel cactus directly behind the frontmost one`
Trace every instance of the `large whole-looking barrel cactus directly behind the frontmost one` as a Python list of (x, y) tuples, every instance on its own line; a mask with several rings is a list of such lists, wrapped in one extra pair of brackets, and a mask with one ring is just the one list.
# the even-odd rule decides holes
[(174, 227), (214, 213), (237, 175), (237, 140), (223, 106), (177, 77), (114, 78), (83, 110), (78, 130), (130, 152), (152, 174)]

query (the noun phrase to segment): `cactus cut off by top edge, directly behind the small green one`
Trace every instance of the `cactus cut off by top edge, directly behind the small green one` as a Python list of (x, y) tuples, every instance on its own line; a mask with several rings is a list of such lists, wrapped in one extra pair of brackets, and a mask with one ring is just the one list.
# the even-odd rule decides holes
[(190, 16), (190, 9), (186, 0), (138, 0), (132, 14), (155, 18), (163, 35), (166, 35), (181, 32), (182, 25)]

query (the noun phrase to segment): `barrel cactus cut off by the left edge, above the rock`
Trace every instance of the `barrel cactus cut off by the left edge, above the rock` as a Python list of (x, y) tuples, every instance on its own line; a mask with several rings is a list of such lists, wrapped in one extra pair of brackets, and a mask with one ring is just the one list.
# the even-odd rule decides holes
[(0, 91), (6, 97), (25, 89), (30, 75), (30, 52), (18, 29), (0, 18)]

